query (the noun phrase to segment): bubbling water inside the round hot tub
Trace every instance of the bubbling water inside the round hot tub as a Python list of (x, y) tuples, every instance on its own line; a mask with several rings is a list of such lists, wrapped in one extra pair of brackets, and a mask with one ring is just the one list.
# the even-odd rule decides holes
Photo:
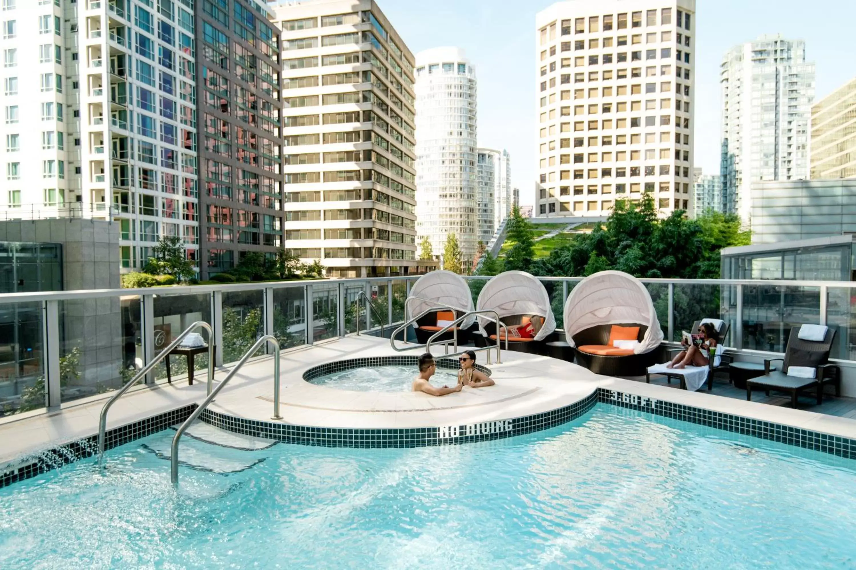
[[(413, 379), (419, 374), (415, 366), (378, 366), (360, 367), (324, 374), (307, 380), (310, 384), (327, 386), (338, 390), (354, 390), (359, 392), (401, 392), (413, 389)], [(456, 370), (438, 369), (431, 376), (431, 385), (449, 386), (458, 383)]]

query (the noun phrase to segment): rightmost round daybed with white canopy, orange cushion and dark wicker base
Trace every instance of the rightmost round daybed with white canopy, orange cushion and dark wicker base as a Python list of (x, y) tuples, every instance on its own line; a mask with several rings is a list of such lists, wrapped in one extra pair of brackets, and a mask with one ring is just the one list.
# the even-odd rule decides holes
[(565, 303), (565, 336), (593, 373), (636, 376), (654, 363), (663, 330), (639, 279), (602, 271), (580, 281)]

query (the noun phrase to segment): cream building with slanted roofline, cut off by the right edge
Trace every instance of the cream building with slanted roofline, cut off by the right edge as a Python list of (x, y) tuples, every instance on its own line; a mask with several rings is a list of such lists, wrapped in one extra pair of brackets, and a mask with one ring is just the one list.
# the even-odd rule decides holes
[(811, 179), (856, 177), (856, 79), (811, 107)]

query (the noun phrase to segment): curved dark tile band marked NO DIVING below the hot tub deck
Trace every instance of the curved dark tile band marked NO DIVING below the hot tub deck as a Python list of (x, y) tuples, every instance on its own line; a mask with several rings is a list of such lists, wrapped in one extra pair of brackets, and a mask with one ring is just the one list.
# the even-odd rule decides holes
[(345, 427), (294, 426), (261, 420), (247, 420), (206, 409), (200, 419), (229, 432), (257, 438), (276, 439), (288, 444), (323, 447), (426, 447), (465, 444), (489, 439), (510, 438), (559, 426), (586, 414), (597, 403), (597, 392), (582, 400), (549, 412), (509, 420), (487, 421), (459, 426), (364, 429)]

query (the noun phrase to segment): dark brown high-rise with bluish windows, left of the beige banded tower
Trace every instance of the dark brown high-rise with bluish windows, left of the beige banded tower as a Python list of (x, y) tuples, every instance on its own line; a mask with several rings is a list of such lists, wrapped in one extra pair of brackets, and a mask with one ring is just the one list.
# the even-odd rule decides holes
[(282, 247), (282, 65), (280, 31), (264, 0), (198, 4), (200, 273), (207, 279), (247, 252), (274, 256)]

